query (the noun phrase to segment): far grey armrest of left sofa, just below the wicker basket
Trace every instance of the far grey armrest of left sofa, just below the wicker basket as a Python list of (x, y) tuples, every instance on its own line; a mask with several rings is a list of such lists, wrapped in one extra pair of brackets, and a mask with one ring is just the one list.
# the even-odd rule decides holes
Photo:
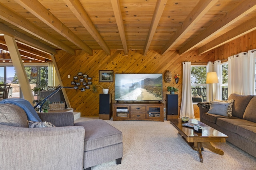
[(38, 113), (42, 121), (48, 121), (56, 127), (60, 126), (74, 126), (73, 112), (48, 112)]

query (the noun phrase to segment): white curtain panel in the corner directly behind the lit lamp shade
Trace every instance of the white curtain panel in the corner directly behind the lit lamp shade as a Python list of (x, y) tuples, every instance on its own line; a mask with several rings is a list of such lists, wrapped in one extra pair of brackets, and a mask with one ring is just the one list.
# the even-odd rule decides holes
[(213, 71), (217, 73), (219, 82), (212, 84), (212, 100), (214, 99), (222, 100), (222, 90), (221, 90), (222, 80), (220, 80), (220, 77), (222, 77), (222, 68), (221, 68), (220, 60), (214, 61)]

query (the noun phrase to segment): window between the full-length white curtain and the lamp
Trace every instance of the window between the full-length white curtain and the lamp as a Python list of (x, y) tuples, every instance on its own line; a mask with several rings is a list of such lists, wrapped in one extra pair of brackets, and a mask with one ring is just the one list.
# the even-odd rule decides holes
[(191, 66), (191, 90), (193, 102), (206, 101), (206, 65)]

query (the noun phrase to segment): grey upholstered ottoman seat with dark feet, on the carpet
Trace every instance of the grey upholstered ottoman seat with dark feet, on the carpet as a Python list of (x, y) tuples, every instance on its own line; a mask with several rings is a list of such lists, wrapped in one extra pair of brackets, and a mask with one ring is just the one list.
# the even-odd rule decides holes
[(122, 132), (104, 120), (83, 121), (74, 124), (83, 126), (84, 169), (116, 160), (120, 164), (123, 156)]

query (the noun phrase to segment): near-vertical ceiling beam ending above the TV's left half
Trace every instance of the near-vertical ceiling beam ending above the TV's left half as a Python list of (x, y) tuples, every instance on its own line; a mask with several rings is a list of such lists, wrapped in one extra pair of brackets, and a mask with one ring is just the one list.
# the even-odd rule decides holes
[[(167, 1), (167, 0), (165, 0)], [(119, 0), (111, 0), (112, 8), (114, 11), (114, 15), (116, 18), (116, 24), (118, 27), (119, 35), (122, 41), (122, 45), (124, 48), (124, 54), (128, 55), (128, 48), (127, 48), (127, 42), (126, 42), (126, 37), (125, 37), (125, 32), (124, 32), (124, 23), (122, 19), (122, 12), (120, 9), (120, 3)]]

